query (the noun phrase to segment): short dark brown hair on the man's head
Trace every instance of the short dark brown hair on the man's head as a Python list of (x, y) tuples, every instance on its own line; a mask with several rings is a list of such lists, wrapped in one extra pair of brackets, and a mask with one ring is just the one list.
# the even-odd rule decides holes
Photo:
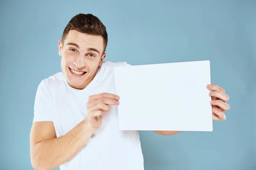
[(62, 42), (64, 42), (67, 34), (72, 29), (81, 33), (101, 35), (104, 45), (103, 53), (105, 53), (108, 44), (108, 33), (106, 31), (106, 27), (98, 17), (94, 16), (93, 14), (77, 14), (74, 16), (63, 31)]

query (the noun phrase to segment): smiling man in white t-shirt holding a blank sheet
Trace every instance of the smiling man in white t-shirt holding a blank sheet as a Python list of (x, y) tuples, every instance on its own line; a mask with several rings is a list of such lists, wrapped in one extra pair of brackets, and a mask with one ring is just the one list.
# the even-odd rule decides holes
[[(62, 72), (44, 79), (35, 97), (30, 134), (35, 170), (143, 170), (137, 131), (118, 129), (113, 67), (104, 62), (108, 34), (92, 14), (78, 14), (58, 42)], [(212, 118), (225, 120), (229, 96), (217, 85), (206, 87), (212, 96)], [(132, 123), (132, 122), (131, 122)], [(173, 135), (176, 131), (154, 131)]]

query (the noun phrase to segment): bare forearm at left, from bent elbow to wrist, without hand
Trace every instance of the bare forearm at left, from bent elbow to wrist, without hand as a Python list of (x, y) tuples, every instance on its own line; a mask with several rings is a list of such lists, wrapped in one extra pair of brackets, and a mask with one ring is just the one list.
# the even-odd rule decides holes
[(54, 169), (72, 159), (93, 135), (86, 120), (64, 136), (38, 142), (33, 147), (32, 164), (36, 170)]

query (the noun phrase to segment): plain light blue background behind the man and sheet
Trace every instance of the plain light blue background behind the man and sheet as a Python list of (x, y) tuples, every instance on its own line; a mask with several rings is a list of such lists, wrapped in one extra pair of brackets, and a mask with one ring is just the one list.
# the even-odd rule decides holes
[(0, 4), (0, 170), (32, 169), (35, 92), (42, 79), (61, 71), (58, 40), (79, 13), (92, 13), (107, 27), (106, 60), (131, 65), (210, 60), (212, 83), (230, 96), (227, 120), (214, 121), (213, 132), (140, 132), (145, 170), (256, 170), (256, 1)]

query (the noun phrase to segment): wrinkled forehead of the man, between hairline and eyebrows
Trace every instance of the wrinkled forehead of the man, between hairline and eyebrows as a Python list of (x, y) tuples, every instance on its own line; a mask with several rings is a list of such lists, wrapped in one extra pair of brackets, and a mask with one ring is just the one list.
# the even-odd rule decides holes
[(100, 35), (90, 35), (81, 33), (76, 30), (70, 30), (64, 40), (65, 45), (67, 43), (75, 43), (79, 45), (79, 48), (96, 48), (99, 51), (103, 51), (103, 38)]

